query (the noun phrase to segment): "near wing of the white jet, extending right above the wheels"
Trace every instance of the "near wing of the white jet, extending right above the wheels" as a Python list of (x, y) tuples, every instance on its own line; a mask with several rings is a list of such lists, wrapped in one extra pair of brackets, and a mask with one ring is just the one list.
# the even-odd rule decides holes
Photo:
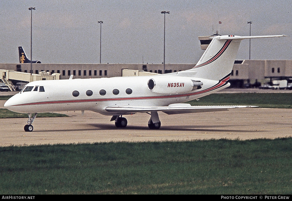
[(227, 111), (232, 108), (246, 108), (257, 106), (229, 105), (229, 106), (191, 106), (186, 103), (170, 104), (168, 106), (108, 106), (106, 111), (117, 114), (131, 114), (139, 112), (161, 111), (166, 114), (184, 114), (197, 112)]

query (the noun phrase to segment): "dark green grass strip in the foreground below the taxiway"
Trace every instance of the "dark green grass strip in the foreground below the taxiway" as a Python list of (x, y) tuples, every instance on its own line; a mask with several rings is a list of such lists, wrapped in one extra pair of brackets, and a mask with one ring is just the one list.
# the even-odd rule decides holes
[(0, 194), (291, 194), (292, 139), (0, 147)]

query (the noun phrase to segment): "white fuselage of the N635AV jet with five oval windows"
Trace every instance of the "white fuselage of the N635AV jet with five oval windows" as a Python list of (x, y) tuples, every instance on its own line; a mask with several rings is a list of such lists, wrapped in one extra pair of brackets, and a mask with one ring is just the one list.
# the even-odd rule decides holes
[[(157, 81), (155, 87), (168, 91), (151, 91), (147, 86), (150, 79)], [(184, 88), (190, 80), (199, 80), (204, 84), (200, 89), (186, 89), (185, 92)], [(25, 91), (28, 86), (31, 90)], [(5, 106), (20, 113), (90, 110), (113, 115), (105, 110), (107, 106), (168, 106), (197, 99), (227, 86), (229, 83), (225, 81), (166, 75), (34, 81), (9, 99)]]

